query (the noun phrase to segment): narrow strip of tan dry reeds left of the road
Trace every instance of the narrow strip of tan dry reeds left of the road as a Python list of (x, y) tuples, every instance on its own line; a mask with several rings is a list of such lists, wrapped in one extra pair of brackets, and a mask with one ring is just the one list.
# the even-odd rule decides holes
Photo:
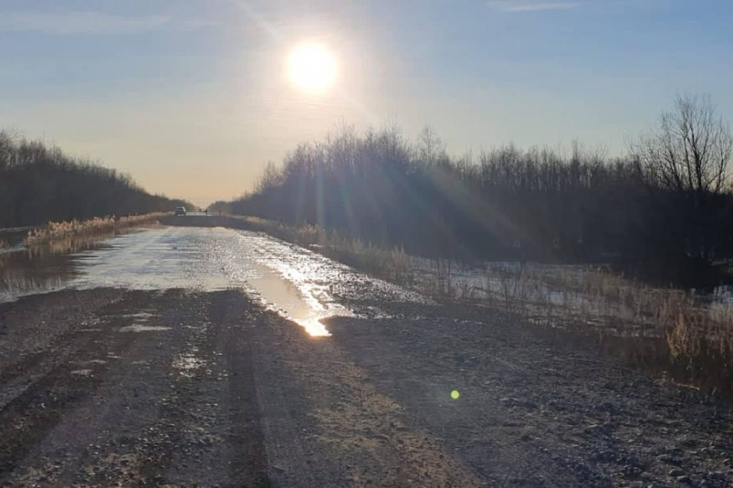
[(165, 215), (167, 214), (146, 213), (144, 215), (129, 215), (126, 217), (96, 217), (86, 221), (51, 222), (45, 227), (29, 231), (26, 234), (26, 244), (49, 244), (54, 241), (64, 241), (73, 237), (110, 233), (144, 223), (152, 223)]

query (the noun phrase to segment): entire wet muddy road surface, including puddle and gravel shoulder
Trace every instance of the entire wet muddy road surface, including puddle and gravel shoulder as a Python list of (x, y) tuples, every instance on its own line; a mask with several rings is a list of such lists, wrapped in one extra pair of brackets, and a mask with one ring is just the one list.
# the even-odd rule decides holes
[(0, 485), (733, 485), (728, 404), (261, 234), (29, 259), (0, 260)]

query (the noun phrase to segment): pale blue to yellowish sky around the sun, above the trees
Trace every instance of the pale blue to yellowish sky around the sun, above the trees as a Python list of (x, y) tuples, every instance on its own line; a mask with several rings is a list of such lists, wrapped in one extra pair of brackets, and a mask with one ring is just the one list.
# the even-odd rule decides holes
[[(304, 42), (330, 88), (288, 75)], [(200, 205), (343, 121), (615, 155), (678, 94), (733, 122), (731, 86), (730, 0), (0, 0), (0, 129)]]

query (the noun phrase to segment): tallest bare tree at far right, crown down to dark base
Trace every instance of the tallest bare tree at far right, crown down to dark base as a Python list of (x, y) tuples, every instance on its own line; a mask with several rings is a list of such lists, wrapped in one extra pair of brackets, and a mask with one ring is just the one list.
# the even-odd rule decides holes
[(659, 127), (632, 145), (632, 157), (644, 182), (658, 194), (655, 205), (666, 209), (663, 222), (675, 230), (678, 251), (709, 262), (728, 229), (729, 164), (733, 136), (708, 97), (679, 97), (675, 109), (662, 114)]

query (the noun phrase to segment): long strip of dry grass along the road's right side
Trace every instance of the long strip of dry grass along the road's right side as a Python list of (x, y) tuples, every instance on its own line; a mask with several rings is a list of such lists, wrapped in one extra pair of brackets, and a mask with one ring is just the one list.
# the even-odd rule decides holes
[[(425, 260), (316, 226), (251, 217), (242, 227), (300, 244), (440, 299), (493, 307), (563, 337), (578, 337), (678, 383), (733, 394), (733, 309), (590, 266)], [(585, 339), (582, 339), (585, 337)]]

